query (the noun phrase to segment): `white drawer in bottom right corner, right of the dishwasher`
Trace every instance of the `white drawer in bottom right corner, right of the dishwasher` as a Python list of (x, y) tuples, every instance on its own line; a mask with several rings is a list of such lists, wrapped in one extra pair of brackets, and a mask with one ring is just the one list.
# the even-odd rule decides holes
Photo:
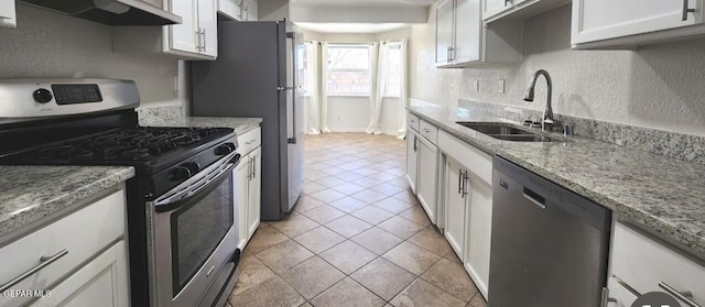
[(610, 266), (612, 275), (640, 294), (666, 292), (659, 287), (665, 283), (679, 292), (690, 290), (693, 301), (705, 305), (704, 263), (621, 222), (615, 223)]

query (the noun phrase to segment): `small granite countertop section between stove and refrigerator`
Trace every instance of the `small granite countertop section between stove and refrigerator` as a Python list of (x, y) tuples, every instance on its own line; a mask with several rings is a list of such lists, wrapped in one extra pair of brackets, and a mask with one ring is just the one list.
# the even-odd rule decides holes
[(235, 129), (235, 133), (241, 135), (259, 127), (261, 122), (261, 118), (186, 117), (173, 120), (141, 121), (140, 124), (152, 127), (225, 127)]

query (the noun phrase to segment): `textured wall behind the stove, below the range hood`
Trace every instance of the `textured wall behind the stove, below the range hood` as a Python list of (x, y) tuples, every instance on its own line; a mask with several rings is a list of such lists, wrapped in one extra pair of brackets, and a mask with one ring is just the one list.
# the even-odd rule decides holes
[(0, 78), (104, 77), (137, 81), (142, 106), (187, 105), (173, 78), (184, 64), (162, 54), (112, 52), (111, 28), (22, 3), (18, 28), (0, 28)]

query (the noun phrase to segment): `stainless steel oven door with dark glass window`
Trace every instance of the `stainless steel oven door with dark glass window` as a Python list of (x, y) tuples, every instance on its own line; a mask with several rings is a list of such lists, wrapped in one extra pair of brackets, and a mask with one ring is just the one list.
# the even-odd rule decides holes
[[(232, 153), (148, 202), (150, 288), (154, 306), (198, 306), (239, 259)], [(237, 263), (236, 263), (237, 265)], [(227, 282), (226, 282), (227, 284)]]

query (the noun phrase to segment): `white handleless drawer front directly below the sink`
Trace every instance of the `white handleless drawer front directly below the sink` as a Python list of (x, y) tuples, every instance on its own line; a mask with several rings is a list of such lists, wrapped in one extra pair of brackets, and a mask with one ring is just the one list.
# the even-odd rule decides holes
[(438, 131), (438, 149), (467, 167), (477, 177), (492, 185), (492, 156), (460, 141), (445, 131)]

